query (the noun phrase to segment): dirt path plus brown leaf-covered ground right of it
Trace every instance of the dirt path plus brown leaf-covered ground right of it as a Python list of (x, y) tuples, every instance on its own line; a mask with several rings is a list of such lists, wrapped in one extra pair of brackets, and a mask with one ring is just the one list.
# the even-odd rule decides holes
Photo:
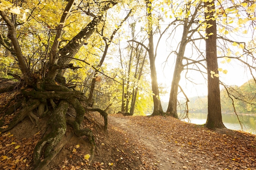
[(159, 170), (256, 170), (256, 135), (163, 116), (110, 120), (153, 152)]

